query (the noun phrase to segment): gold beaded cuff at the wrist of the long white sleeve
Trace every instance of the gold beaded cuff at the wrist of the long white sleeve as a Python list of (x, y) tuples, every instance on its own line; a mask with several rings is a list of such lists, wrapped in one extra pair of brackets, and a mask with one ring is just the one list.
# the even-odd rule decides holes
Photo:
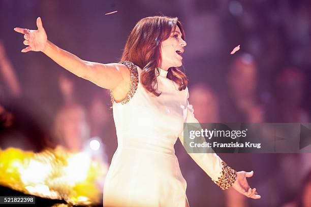
[(221, 177), (218, 178), (218, 181), (214, 181), (214, 183), (222, 190), (226, 190), (234, 184), (237, 172), (229, 167), (226, 162), (222, 162), (222, 165)]

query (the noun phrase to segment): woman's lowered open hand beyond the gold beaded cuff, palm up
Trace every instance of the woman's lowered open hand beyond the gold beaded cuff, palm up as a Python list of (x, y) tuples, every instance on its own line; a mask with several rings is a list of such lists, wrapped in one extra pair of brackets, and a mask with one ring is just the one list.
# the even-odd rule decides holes
[(251, 188), (250, 185), (248, 185), (246, 178), (251, 178), (254, 175), (254, 171), (251, 172), (245, 172), (245, 171), (239, 171), (237, 172), (236, 181), (232, 185), (232, 187), (238, 191), (239, 193), (254, 199), (261, 198), (260, 195), (256, 192), (256, 188)]

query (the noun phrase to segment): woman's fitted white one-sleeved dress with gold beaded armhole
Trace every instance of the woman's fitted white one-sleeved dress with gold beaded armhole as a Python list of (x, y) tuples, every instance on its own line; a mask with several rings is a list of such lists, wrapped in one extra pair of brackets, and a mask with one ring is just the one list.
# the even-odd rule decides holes
[[(114, 102), (113, 117), (118, 147), (104, 184), (104, 206), (184, 207), (186, 181), (181, 175), (174, 144), (182, 142), (184, 122), (198, 122), (188, 103), (188, 89), (160, 69), (157, 77), (160, 96), (138, 83), (141, 68), (122, 62), (131, 72), (131, 89), (125, 100)], [(206, 173), (217, 181), (223, 163), (216, 154), (190, 154)]]

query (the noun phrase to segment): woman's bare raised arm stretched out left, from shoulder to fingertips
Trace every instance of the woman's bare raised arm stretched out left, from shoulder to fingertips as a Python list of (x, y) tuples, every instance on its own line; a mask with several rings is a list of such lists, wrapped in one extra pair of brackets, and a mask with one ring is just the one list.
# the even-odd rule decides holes
[(40, 17), (37, 18), (37, 27), (37, 30), (14, 28), (15, 31), (24, 34), (25, 40), (23, 43), (28, 46), (22, 49), (21, 52), (41, 51), (66, 70), (102, 88), (111, 90), (118, 88), (119, 90), (123, 88), (122, 85), (127, 85), (124, 84), (125, 81), (123, 80), (128, 81), (130, 73), (125, 65), (120, 63), (102, 64), (82, 60), (48, 41)]

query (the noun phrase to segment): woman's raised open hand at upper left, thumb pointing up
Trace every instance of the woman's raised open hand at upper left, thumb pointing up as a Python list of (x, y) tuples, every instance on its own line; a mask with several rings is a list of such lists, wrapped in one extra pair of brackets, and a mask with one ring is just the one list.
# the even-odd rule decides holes
[(42, 26), (41, 18), (37, 18), (37, 30), (23, 29), (15, 27), (14, 31), (24, 34), (24, 45), (28, 47), (22, 49), (21, 52), (43, 51), (47, 45), (47, 35)]

